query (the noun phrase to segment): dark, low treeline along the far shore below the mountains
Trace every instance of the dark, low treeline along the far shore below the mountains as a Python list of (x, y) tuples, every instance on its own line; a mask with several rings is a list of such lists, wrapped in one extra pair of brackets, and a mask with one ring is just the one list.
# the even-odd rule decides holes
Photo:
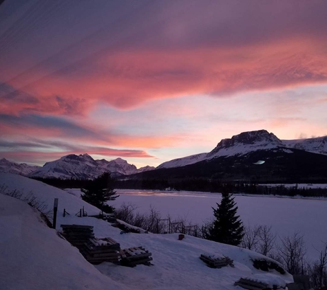
[[(34, 179), (47, 183), (57, 188), (85, 188), (89, 179), (59, 179), (41, 178)], [(274, 182), (269, 182), (274, 183)], [(282, 195), (295, 197), (327, 197), (327, 188), (304, 188), (298, 185), (286, 187), (279, 183), (275, 186), (258, 185), (253, 181), (221, 181), (204, 178), (184, 179), (113, 179), (112, 188), (136, 190), (187, 190), (202, 192), (229, 192), (244, 194)]]

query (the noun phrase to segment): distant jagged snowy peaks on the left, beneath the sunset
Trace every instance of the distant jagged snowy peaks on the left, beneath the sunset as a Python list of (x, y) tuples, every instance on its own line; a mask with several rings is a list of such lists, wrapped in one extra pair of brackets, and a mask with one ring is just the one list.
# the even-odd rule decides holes
[(43, 167), (32, 172), (30, 177), (56, 177), (56, 178), (88, 178), (94, 179), (105, 171), (112, 172), (114, 177), (120, 175), (131, 175), (138, 172), (152, 170), (147, 168), (137, 169), (135, 165), (128, 164), (126, 160), (117, 158), (112, 161), (105, 159), (94, 160), (88, 154), (66, 155), (61, 159), (44, 164)]

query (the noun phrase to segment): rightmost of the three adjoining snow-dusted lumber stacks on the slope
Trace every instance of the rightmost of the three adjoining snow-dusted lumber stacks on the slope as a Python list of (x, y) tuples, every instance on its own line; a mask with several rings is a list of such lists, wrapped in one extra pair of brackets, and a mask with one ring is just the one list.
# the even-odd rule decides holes
[(129, 249), (120, 250), (120, 264), (127, 267), (136, 265), (151, 265), (151, 253), (144, 247), (130, 247)]

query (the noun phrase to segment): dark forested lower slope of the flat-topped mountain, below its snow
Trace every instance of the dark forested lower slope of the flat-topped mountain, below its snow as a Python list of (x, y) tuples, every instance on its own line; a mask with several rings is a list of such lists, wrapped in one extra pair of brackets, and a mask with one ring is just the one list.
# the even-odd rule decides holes
[[(265, 161), (255, 165), (258, 160)], [(138, 179), (208, 178), (226, 181), (327, 183), (327, 156), (293, 148), (255, 150), (220, 156), (175, 168), (158, 168), (134, 175)]]

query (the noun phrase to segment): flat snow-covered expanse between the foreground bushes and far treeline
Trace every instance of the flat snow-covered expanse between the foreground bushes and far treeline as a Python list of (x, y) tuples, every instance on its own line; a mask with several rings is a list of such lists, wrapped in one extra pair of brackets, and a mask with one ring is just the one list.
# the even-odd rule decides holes
[[(77, 191), (78, 192), (78, 191)], [(185, 217), (193, 223), (203, 223), (213, 216), (211, 207), (220, 203), (221, 194), (208, 192), (160, 192), (149, 190), (117, 190), (120, 197), (113, 201), (116, 207), (122, 203), (138, 206), (138, 211), (148, 212), (150, 205), (163, 217)], [(77, 194), (77, 193), (76, 193)], [(299, 231), (304, 234), (308, 258), (317, 258), (315, 250), (327, 241), (327, 200), (286, 197), (235, 196), (245, 225), (272, 225), (279, 236)]]

